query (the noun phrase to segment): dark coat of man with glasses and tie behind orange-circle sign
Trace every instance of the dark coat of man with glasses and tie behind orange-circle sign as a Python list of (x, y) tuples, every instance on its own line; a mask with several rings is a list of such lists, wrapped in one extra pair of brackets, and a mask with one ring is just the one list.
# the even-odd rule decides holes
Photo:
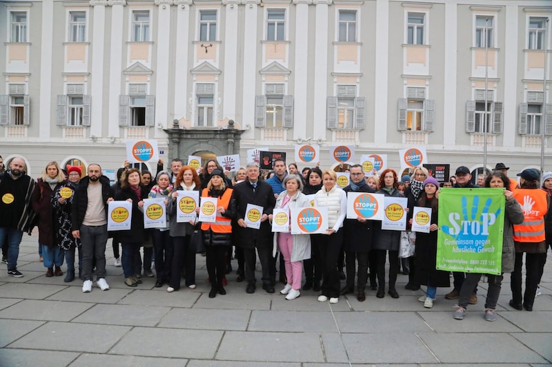
[[(351, 185), (348, 185), (343, 189), (346, 193), (349, 192), (370, 192), (375, 193), (375, 190), (364, 185), (360, 187), (358, 191), (353, 191)], [(372, 249), (372, 242), (374, 237), (374, 221), (366, 220), (366, 222), (359, 222), (356, 219), (345, 219), (343, 222), (344, 238), (343, 246), (345, 251), (352, 252), (369, 252)]]

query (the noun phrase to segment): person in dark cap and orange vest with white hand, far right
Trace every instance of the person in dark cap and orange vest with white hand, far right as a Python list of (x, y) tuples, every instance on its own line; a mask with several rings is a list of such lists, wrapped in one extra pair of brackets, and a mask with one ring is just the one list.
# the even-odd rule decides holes
[[(516, 310), (533, 311), (535, 292), (539, 281), (540, 258), (546, 252), (544, 235), (544, 216), (549, 207), (549, 197), (539, 189), (540, 172), (536, 169), (524, 169), (517, 174), (521, 177), (521, 188), (513, 196), (520, 203), (524, 220), (513, 226), (515, 263), (511, 275), (512, 299), (510, 306)], [(522, 263), (525, 255), (525, 294), (522, 298)], [(523, 301), (523, 302), (522, 302)]]

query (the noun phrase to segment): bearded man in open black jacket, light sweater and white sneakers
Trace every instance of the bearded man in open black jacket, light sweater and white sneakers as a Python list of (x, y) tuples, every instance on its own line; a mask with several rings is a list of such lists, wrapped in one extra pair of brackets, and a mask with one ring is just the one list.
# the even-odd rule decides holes
[(83, 178), (75, 190), (71, 212), (73, 238), (82, 242), (82, 291), (92, 291), (92, 263), (95, 260), (97, 285), (107, 291), (106, 242), (108, 241), (108, 202), (110, 197), (109, 178), (102, 176), (97, 163), (88, 166), (88, 176)]

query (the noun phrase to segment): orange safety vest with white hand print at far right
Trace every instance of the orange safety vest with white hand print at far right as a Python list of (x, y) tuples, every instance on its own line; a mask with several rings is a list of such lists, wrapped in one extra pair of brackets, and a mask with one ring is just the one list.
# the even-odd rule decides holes
[(544, 241), (544, 215), (548, 211), (546, 192), (540, 189), (517, 189), (513, 197), (520, 203), (524, 215), (523, 223), (513, 226), (514, 241)]

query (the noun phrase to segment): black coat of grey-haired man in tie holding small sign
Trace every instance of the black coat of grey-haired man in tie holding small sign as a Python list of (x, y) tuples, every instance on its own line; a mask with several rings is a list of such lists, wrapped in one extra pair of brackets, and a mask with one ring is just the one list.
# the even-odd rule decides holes
[[(234, 187), (234, 195), (237, 205), (236, 220), (244, 219), (248, 204), (263, 207), (263, 214), (272, 214), (276, 205), (274, 191), (270, 184), (257, 181), (257, 188), (253, 189), (249, 180), (239, 182)], [(273, 247), (273, 233), (270, 222), (265, 220), (260, 229), (237, 227), (237, 245), (252, 249), (254, 247)]]

